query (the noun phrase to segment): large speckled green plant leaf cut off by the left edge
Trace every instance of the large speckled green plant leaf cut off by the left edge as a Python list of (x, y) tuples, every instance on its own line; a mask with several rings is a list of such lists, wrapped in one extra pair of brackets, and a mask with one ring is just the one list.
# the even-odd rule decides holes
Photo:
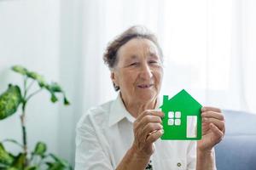
[(14, 114), (21, 101), (22, 96), (19, 86), (9, 84), (9, 88), (0, 95), (0, 120)]

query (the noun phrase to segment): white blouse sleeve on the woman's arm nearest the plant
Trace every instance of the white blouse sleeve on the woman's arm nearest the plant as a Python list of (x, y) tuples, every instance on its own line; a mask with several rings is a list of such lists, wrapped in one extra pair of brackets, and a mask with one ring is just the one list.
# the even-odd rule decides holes
[(80, 120), (76, 130), (75, 170), (112, 170), (89, 116)]

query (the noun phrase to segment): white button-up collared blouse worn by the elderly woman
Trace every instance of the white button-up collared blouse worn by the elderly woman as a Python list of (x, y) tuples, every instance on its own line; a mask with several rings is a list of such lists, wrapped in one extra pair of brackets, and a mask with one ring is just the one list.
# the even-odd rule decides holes
[[(75, 170), (115, 169), (133, 143), (134, 121), (120, 95), (87, 111), (77, 125)], [(196, 141), (158, 139), (154, 146), (154, 170), (195, 169)]]

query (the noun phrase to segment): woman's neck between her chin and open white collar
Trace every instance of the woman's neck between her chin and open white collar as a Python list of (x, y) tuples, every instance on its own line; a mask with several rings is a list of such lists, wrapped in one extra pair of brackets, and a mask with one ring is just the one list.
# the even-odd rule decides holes
[(157, 103), (157, 98), (148, 100), (147, 102), (134, 102), (124, 99), (122, 94), (120, 94), (120, 97), (125, 105), (125, 109), (135, 118), (145, 110), (154, 110)]

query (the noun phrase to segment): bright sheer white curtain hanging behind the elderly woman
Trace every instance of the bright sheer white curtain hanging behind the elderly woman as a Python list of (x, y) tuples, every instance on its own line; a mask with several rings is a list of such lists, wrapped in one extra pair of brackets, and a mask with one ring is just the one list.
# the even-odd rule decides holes
[(165, 55), (161, 94), (182, 88), (202, 105), (255, 112), (256, 2), (253, 0), (94, 0), (81, 3), (84, 107), (113, 99), (102, 54), (113, 37), (143, 25)]

